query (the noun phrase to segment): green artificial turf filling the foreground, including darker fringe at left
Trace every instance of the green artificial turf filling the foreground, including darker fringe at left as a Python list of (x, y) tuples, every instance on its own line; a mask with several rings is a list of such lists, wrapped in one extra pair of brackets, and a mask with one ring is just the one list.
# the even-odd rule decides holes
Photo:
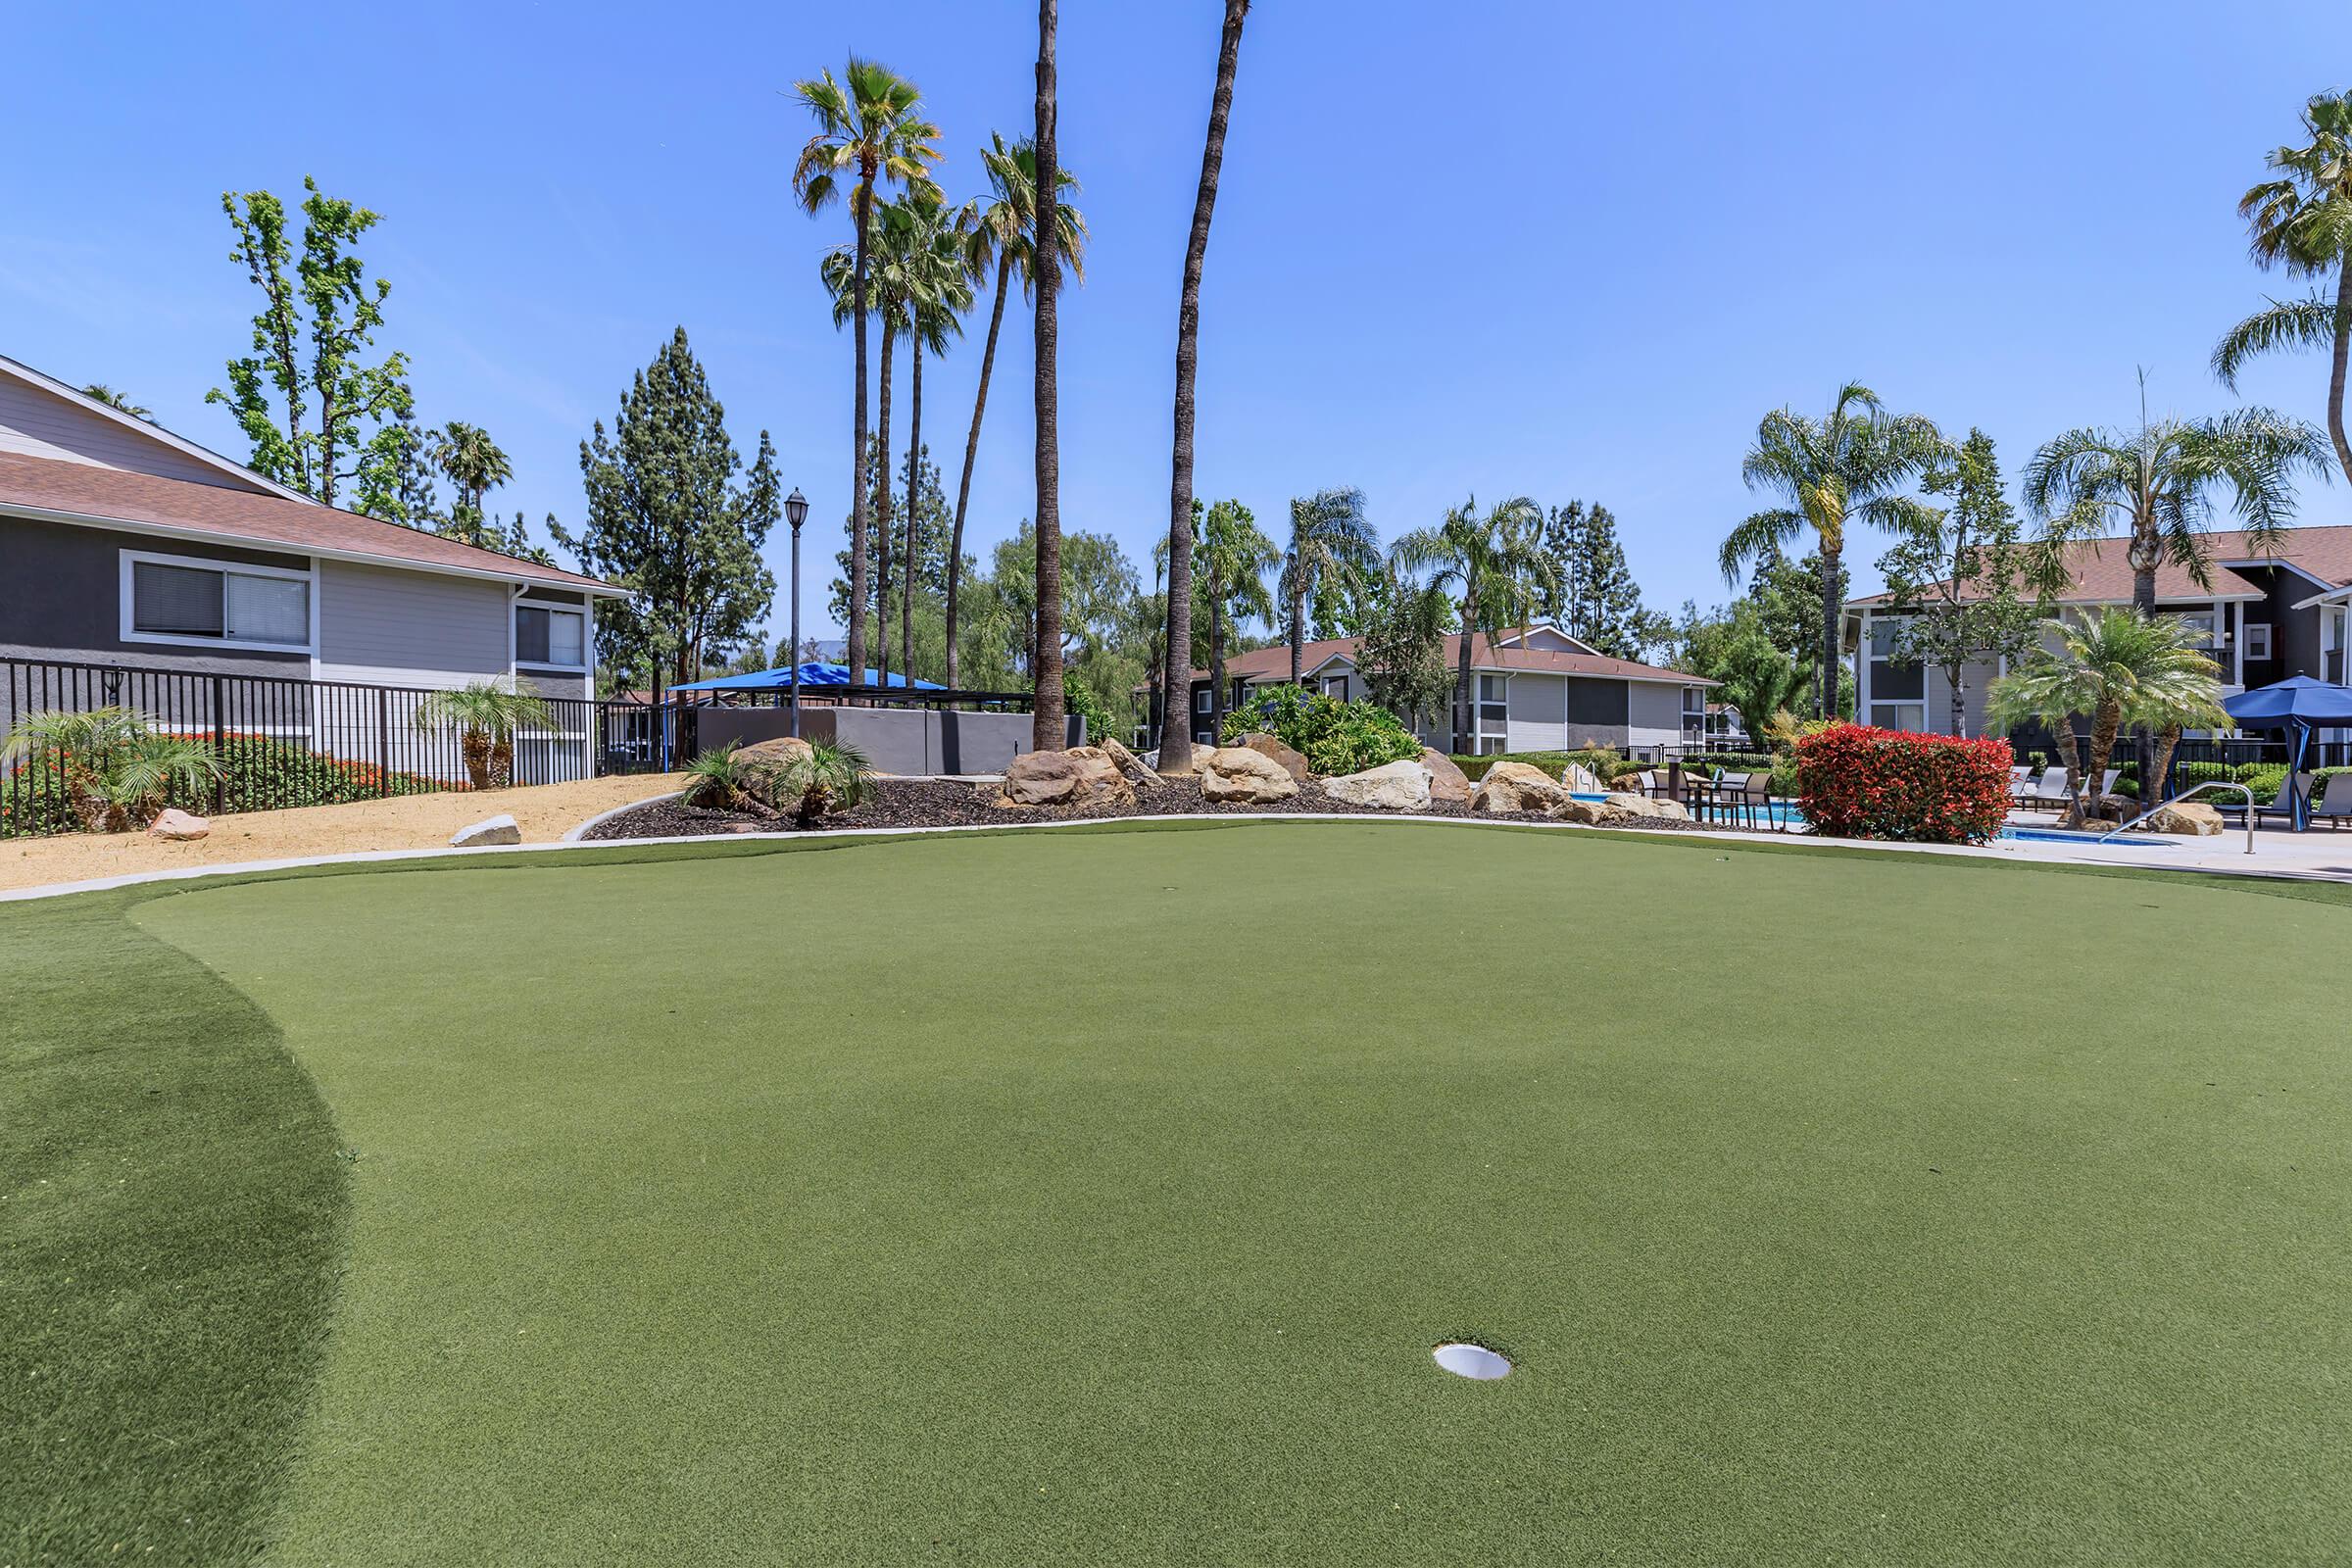
[[(746, 849), (0, 910), (56, 1030), (7, 1288), (103, 1385), (47, 1410), (73, 1502), (0, 1476), (16, 1561), (252, 1378), (179, 1495), (285, 1563), (2352, 1554), (2340, 893), (1385, 823)], [(183, 1185), (96, 1192), (113, 1119)], [(174, 1382), (127, 1258), (249, 1342)]]

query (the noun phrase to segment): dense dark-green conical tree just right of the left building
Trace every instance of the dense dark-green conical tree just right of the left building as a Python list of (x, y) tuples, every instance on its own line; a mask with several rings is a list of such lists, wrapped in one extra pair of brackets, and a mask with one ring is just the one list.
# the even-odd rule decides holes
[(727, 411), (680, 327), (621, 395), (612, 435), (597, 421), (581, 442), (588, 520), (579, 536), (548, 520), (586, 571), (633, 590), (597, 609), (604, 663), (661, 663), (677, 684), (757, 632), (776, 597), (760, 545), (783, 510), (767, 430), (741, 484), (736, 475), (743, 458)]

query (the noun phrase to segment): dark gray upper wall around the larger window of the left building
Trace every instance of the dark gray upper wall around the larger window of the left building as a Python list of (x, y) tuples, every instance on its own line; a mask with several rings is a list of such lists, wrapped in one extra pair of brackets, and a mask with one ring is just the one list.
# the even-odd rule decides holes
[[(0, 381), (0, 386), (9, 386)], [(306, 555), (200, 545), (151, 534), (111, 534), (64, 522), (0, 517), (0, 656), (101, 665), (162, 665), (228, 675), (306, 677), (306, 654), (183, 649), (122, 639), (122, 550), (155, 550), (247, 567), (303, 571)]]

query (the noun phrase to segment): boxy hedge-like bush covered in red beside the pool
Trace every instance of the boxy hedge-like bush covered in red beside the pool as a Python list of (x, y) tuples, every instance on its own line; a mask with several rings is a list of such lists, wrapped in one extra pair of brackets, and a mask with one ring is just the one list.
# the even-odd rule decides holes
[(1797, 795), (1832, 839), (1983, 844), (2009, 816), (2009, 741), (1837, 724), (1797, 741)]

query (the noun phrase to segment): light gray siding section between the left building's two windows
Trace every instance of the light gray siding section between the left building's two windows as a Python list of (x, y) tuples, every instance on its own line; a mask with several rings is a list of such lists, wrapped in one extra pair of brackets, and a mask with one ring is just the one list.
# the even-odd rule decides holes
[(320, 562), (318, 677), (463, 686), (506, 675), (510, 621), (503, 583)]

